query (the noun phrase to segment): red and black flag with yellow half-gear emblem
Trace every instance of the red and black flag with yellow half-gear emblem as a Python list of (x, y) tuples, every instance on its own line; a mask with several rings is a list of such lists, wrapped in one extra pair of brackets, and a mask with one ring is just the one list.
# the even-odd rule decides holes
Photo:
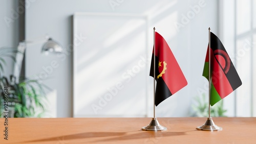
[[(155, 32), (156, 46), (156, 95), (155, 105), (187, 85), (187, 81), (164, 38)], [(150, 76), (154, 77), (154, 50), (151, 60)]]

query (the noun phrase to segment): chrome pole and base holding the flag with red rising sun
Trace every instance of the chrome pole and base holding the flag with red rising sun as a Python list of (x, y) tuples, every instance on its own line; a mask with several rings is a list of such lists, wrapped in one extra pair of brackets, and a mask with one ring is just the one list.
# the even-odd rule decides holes
[(198, 130), (203, 130), (203, 131), (221, 131), (222, 127), (218, 127), (217, 125), (214, 124), (214, 121), (210, 117), (210, 85), (211, 85), (211, 71), (210, 71), (210, 28), (209, 30), (209, 117), (207, 117), (207, 120), (204, 125), (197, 127)]

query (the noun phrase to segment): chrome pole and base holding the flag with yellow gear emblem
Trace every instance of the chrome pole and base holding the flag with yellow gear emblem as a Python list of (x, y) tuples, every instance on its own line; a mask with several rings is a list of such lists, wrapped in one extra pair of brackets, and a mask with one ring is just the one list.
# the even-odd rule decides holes
[(155, 107), (156, 107), (156, 28), (154, 27), (154, 50), (153, 50), (153, 55), (154, 55), (154, 117), (151, 120), (151, 123), (145, 127), (142, 128), (143, 131), (165, 131), (167, 128), (161, 126), (159, 122), (157, 121), (157, 117), (155, 115)]

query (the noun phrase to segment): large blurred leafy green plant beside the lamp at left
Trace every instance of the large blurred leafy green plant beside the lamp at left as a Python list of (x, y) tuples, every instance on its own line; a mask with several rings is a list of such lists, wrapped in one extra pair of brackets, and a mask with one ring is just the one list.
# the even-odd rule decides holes
[(2, 75), (6, 61), (4, 57), (9, 57), (15, 61), (13, 56), (16, 50), (8, 48), (0, 49), (0, 114), (4, 108), (4, 87), (8, 87), (8, 110), (13, 110), (13, 117), (40, 117), (45, 112), (44, 102), (46, 99), (44, 84), (34, 79), (23, 79), (16, 81), (14, 76), (9, 79)]

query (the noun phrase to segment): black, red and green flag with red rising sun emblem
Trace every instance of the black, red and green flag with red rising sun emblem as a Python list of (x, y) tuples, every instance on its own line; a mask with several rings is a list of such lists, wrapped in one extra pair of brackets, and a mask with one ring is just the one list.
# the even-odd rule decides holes
[[(210, 105), (213, 106), (241, 86), (242, 81), (220, 39), (213, 33), (210, 33), (210, 48)], [(203, 76), (209, 80), (209, 45), (204, 63)]]

